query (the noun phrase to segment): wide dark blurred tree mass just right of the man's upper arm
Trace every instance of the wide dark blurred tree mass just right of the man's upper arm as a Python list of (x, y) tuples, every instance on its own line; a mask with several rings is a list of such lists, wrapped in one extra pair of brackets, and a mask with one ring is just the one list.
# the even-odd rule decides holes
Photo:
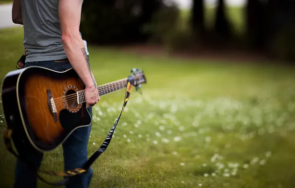
[(162, 0), (84, 0), (80, 31), (90, 43), (143, 42), (149, 34), (142, 27), (162, 6)]

